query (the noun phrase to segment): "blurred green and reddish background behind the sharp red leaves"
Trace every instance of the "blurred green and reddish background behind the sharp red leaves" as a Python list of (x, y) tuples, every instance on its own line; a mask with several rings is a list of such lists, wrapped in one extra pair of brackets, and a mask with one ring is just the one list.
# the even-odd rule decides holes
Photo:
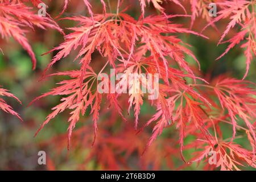
[[(47, 2), (47, 1), (46, 1)], [(57, 16), (63, 7), (64, 1), (51, 1), (47, 2), (49, 8), (47, 12), (52, 15), (52, 17)], [(128, 2), (128, 1), (127, 1)], [(125, 2), (127, 4), (127, 2)], [(116, 6), (116, 1), (110, 1), (113, 9)], [(128, 5), (128, 4), (127, 4)], [(141, 8), (138, 1), (129, 1), (130, 8), (127, 13), (138, 18), (141, 15)], [(174, 3), (163, 4), (167, 11), (167, 14), (183, 14), (183, 10), (175, 5)], [(126, 7), (126, 5), (123, 5)], [(186, 9), (189, 9), (190, 5), (185, 5)], [(147, 14), (157, 13), (154, 7), (147, 7)], [(102, 6), (100, 1), (93, 1), (93, 11), (94, 13), (101, 13)], [(88, 15), (86, 7), (82, 1), (70, 1), (68, 10), (63, 14), (65, 16), (72, 15)], [(184, 24), (185, 27), (189, 28), (190, 19), (189, 18), (176, 18), (175, 23)], [(75, 22), (70, 20), (58, 20), (61, 28), (73, 27)], [(220, 32), (224, 30), (227, 22), (220, 22), (218, 27), (220, 27)], [(207, 24), (204, 19), (196, 19), (192, 30), (200, 32), (203, 27)], [(67, 30), (64, 30), (68, 32)], [(230, 76), (236, 78), (242, 78), (245, 73), (245, 56), (243, 56), (243, 50), (236, 46), (228, 52), (228, 54), (222, 57), (221, 60), (216, 61), (215, 59), (225, 51), (227, 44), (222, 44), (216, 46), (220, 34), (209, 27), (204, 32), (204, 35), (208, 36), (209, 39), (203, 39), (198, 36), (181, 36), (184, 42), (192, 45), (192, 51), (195, 53), (197, 59), (201, 64), (201, 75), (202, 77), (212, 78), (217, 75), (228, 73)], [(19, 46), (13, 39), (8, 41), (0, 39), (0, 47), (2, 48), (4, 54), (0, 53), (0, 85), (5, 89), (9, 89), (11, 93), (22, 101), (22, 105), (19, 105), (15, 100), (11, 98), (5, 98), (5, 100), (14, 107), (24, 122), (20, 122), (11, 114), (6, 114), (0, 111), (0, 169), (3, 170), (65, 170), (65, 169), (179, 169), (183, 165), (182, 160), (179, 157), (179, 151), (177, 148), (177, 141), (171, 140), (172, 135), (175, 134), (175, 128), (170, 128), (163, 132), (163, 135), (152, 145), (151, 149), (146, 152), (143, 156), (145, 160), (138, 163), (140, 158), (139, 152), (143, 151), (148, 138), (150, 137), (151, 130), (148, 130), (146, 134), (140, 136), (138, 143), (133, 143), (133, 138), (130, 136), (138, 137), (136, 131), (133, 130), (133, 119), (131, 117), (129, 123), (120, 122), (111, 125), (109, 123), (110, 117), (114, 117), (113, 114), (106, 114), (99, 121), (99, 134), (96, 144), (91, 147), (93, 140), (93, 128), (92, 118), (86, 115), (84, 118), (80, 119), (77, 123), (75, 132), (72, 137), (72, 147), (71, 150), (67, 150), (67, 132), (68, 128), (68, 111), (59, 114), (55, 119), (44, 127), (42, 131), (34, 138), (36, 130), (43, 123), (46, 116), (51, 112), (51, 108), (59, 103), (59, 97), (47, 97), (40, 101), (35, 102), (35, 104), (27, 107), (29, 102), (31, 102), (35, 97), (40, 96), (42, 93), (47, 92), (49, 89), (55, 86), (55, 83), (60, 81), (60, 78), (51, 77), (46, 80), (39, 81), (42, 76), (43, 69), (51, 60), (52, 55), (49, 54), (41, 56), (43, 53), (49, 51), (53, 47), (59, 45), (63, 42), (63, 36), (55, 30), (42, 31), (35, 29), (27, 34), (28, 40), (36, 54), (38, 61), (37, 68), (35, 71), (31, 70), (32, 64), (30, 57), (27, 52)], [(232, 32), (229, 36), (232, 36)], [(73, 63), (72, 57), (75, 57), (76, 52), (73, 51), (67, 59), (59, 61), (55, 64), (53, 68), (49, 71), (68, 71), (78, 68), (77, 63)], [(93, 57), (97, 59), (97, 55)], [(193, 61), (188, 57), (188, 62)], [(246, 77), (247, 80), (255, 82), (256, 69), (255, 69), (255, 59), (250, 65), (249, 75)], [(102, 106), (104, 107), (104, 106)], [(103, 111), (104, 112), (104, 111)], [(150, 105), (144, 104), (141, 109), (140, 121), (146, 122), (147, 119), (154, 113), (154, 109)], [(149, 115), (149, 116), (148, 116)], [(113, 119), (111, 119), (112, 121)], [(105, 125), (106, 123), (106, 125)], [(105, 130), (101, 132), (101, 125), (105, 126)], [(131, 126), (130, 126), (131, 125)], [(88, 127), (84, 127), (88, 126)], [(129, 141), (131, 145), (135, 145), (138, 154), (129, 156), (129, 162), (127, 158), (119, 158), (122, 156), (122, 147), (118, 150), (119, 153), (115, 154), (115, 147), (113, 142), (117, 144), (120, 142), (116, 137), (113, 140), (108, 140), (105, 136), (118, 136), (119, 129), (126, 127), (126, 133), (122, 133), (122, 137)], [(133, 135), (129, 135), (132, 133)], [(126, 136), (127, 135), (127, 136)], [(127, 137), (127, 138), (126, 138)], [(166, 140), (161, 140), (165, 138)], [(168, 140), (168, 144), (166, 143)], [(137, 140), (136, 140), (137, 141)], [(185, 140), (188, 142), (189, 138)], [(241, 140), (241, 142), (243, 142)], [(104, 143), (104, 144), (101, 144)], [(163, 150), (161, 147), (166, 147), (164, 150), (169, 151), (172, 154), (177, 154), (177, 156), (172, 155), (170, 158), (172, 160), (164, 160)], [(175, 147), (177, 149), (175, 149)], [(47, 165), (38, 164), (38, 151), (46, 151), (47, 154)], [(175, 151), (176, 150), (176, 151)], [(189, 158), (189, 151), (185, 152), (185, 157)], [(147, 160), (146, 160), (147, 159)], [(168, 162), (166, 162), (168, 161)], [(142, 165), (144, 163), (144, 165)], [(146, 167), (142, 167), (146, 166)], [(185, 169), (200, 169), (196, 165), (192, 165)], [(246, 168), (250, 169), (250, 168)]]

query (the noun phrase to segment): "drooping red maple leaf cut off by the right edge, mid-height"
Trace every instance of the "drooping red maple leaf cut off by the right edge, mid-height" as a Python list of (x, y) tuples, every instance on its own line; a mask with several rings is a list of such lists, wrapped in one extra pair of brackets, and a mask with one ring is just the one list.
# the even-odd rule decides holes
[(256, 117), (254, 112), (254, 106), (256, 104), (254, 89), (249, 87), (250, 82), (236, 80), (234, 78), (225, 78), (221, 80), (221, 77), (216, 80), (214, 92), (217, 94), (222, 108), (226, 108), (229, 112), (229, 116), (233, 123), (233, 138), (236, 135), (236, 115), (246, 123), (250, 133), (253, 135), (256, 141), (254, 127), (250, 121)]

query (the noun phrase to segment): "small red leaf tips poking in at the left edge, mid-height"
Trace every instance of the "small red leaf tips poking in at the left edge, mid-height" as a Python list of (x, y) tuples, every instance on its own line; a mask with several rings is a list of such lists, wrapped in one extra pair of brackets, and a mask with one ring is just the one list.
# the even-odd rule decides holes
[[(18, 101), (20, 104), (22, 104), (19, 99), (14, 96), (14, 94), (9, 93), (9, 90), (0, 88), (0, 96), (6, 96), (6, 97), (11, 97), (14, 98), (16, 101)], [(0, 98), (0, 109), (2, 109), (3, 111), (5, 111), (6, 113), (10, 113), (15, 115), (17, 118), (20, 119), (20, 121), (22, 121), (22, 118), (19, 116), (18, 113), (16, 113), (16, 111), (13, 110), (13, 107), (11, 107), (10, 105), (8, 105), (6, 103), (5, 100), (3, 100), (2, 98)]]

